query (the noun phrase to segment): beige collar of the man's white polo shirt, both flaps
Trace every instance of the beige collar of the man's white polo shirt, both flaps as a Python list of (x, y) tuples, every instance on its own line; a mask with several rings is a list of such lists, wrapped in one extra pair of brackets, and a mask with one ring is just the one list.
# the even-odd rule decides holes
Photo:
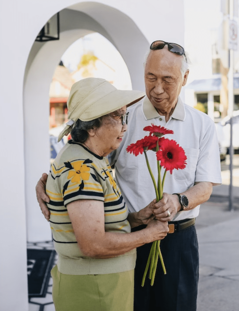
[[(151, 104), (147, 96), (145, 96), (145, 99), (143, 101), (143, 113), (145, 115), (146, 120), (160, 117), (160, 114)], [(171, 117), (177, 120), (181, 120), (181, 121), (184, 121), (185, 119), (185, 108), (180, 97), (178, 97), (177, 99), (177, 104), (173, 110)]]

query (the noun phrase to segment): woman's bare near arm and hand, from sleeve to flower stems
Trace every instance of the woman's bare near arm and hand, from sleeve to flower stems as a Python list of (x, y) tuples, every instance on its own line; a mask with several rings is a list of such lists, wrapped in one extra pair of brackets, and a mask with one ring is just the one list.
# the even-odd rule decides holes
[(104, 203), (77, 200), (67, 204), (77, 243), (85, 256), (112, 258), (133, 248), (163, 239), (168, 223), (151, 220), (145, 229), (131, 233), (105, 232)]

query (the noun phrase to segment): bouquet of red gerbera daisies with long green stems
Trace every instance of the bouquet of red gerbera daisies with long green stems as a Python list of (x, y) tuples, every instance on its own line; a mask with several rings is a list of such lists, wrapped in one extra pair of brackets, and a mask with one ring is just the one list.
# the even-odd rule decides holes
[[(146, 126), (144, 131), (149, 131), (149, 136), (138, 140), (135, 144), (131, 144), (126, 148), (127, 152), (133, 153), (138, 156), (139, 153), (144, 152), (146, 163), (149, 169), (149, 174), (153, 180), (154, 188), (156, 192), (156, 201), (163, 197), (163, 184), (167, 171), (172, 174), (173, 169), (184, 169), (186, 167), (186, 155), (182, 147), (180, 147), (174, 140), (162, 137), (165, 134), (173, 134), (172, 130), (168, 130), (161, 126), (156, 126), (151, 123), (151, 126)], [(149, 160), (146, 151), (156, 151), (157, 167), (158, 167), (158, 182), (156, 183), (154, 175), (151, 171)], [(163, 179), (161, 179), (162, 167), (165, 169)], [(154, 284), (154, 277), (156, 273), (158, 258), (160, 258), (163, 273), (166, 274), (166, 269), (163, 262), (163, 257), (160, 251), (160, 241), (154, 241), (149, 253), (149, 258), (145, 267), (145, 272), (142, 280), (142, 286), (145, 283), (145, 277), (149, 269), (149, 279), (151, 285)], [(150, 265), (150, 268), (149, 268)]]

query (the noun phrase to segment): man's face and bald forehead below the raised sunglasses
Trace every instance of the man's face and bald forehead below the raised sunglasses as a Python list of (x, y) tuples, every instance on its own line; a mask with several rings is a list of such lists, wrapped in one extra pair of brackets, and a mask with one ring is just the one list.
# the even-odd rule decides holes
[(182, 78), (182, 58), (168, 51), (150, 51), (145, 65), (145, 90), (150, 102), (160, 111), (171, 111), (177, 103), (182, 86), (186, 84), (188, 72)]

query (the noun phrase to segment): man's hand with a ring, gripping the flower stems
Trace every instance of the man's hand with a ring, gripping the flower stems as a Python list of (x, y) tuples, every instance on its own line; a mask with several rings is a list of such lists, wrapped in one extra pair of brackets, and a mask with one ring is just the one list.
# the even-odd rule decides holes
[[(180, 209), (181, 205), (175, 194), (163, 193), (163, 198), (159, 202), (156, 203), (154, 200), (153, 214), (158, 220), (171, 221)], [(168, 211), (170, 216), (168, 216)]]

